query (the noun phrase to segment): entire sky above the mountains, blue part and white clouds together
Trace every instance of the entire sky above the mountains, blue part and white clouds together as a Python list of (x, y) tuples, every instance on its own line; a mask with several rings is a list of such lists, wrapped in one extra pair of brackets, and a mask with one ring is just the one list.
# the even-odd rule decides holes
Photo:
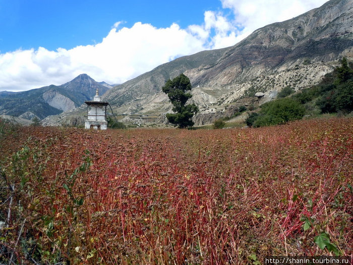
[(82, 73), (123, 83), (325, 2), (0, 0), (0, 91), (60, 85)]

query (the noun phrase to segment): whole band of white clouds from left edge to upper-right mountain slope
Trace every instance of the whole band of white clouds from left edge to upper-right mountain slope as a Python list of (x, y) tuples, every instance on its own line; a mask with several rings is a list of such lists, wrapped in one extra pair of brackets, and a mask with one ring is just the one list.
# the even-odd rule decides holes
[[(61, 85), (86, 73), (96, 81), (119, 84), (175, 58), (236, 44), (257, 28), (298, 16), (325, 0), (221, 0), (231, 14), (206, 11), (202, 25), (167, 28), (116, 22), (100, 43), (55, 51), (44, 47), (0, 54), (0, 91)], [(120, 28), (121, 27), (121, 28)]]

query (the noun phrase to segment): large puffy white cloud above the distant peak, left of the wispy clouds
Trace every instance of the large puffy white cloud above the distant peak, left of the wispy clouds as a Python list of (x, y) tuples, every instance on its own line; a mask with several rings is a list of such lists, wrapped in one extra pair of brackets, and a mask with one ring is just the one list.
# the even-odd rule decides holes
[[(197, 32), (172, 24), (155, 28), (136, 23), (117, 30), (115, 23), (98, 44), (49, 51), (16, 50), (0, 54), (0, 90), (27, 90), (60, 85), (87, 73), (97, 81), (123, 83), (181, 55), (206, 49)], [(201, 33), (200, 33), (201, 34)]]

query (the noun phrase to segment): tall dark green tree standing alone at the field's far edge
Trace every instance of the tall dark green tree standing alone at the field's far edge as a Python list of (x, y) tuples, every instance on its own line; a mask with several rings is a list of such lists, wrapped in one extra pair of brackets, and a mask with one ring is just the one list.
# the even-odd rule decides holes
[(173, 80), (169, 79), (162, 87), (162, 91), (168, 95), (173, 105), (172, 111), (174, 112), (173, 114), (168, 113), (166, 118), (179, 128), (192, 127), (194, 125), (192, 118), (199, 111), (194, 103), (186, 104), (188, 99), (192, 97), (191, 93), (187, 92), (190, 90), (190, 79), (184, 74)]

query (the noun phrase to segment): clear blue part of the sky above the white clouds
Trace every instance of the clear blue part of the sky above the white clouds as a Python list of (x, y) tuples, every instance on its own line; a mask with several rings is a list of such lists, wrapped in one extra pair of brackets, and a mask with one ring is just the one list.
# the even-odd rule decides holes
[(0, 0), (0, 52), (95, 44), (117, 21), (125, 27), (142, 22), (161, 28), (175, 22), (186, 28), (203, 23), (205, 11), (220, 9), (221, 2), (214, 0)]

